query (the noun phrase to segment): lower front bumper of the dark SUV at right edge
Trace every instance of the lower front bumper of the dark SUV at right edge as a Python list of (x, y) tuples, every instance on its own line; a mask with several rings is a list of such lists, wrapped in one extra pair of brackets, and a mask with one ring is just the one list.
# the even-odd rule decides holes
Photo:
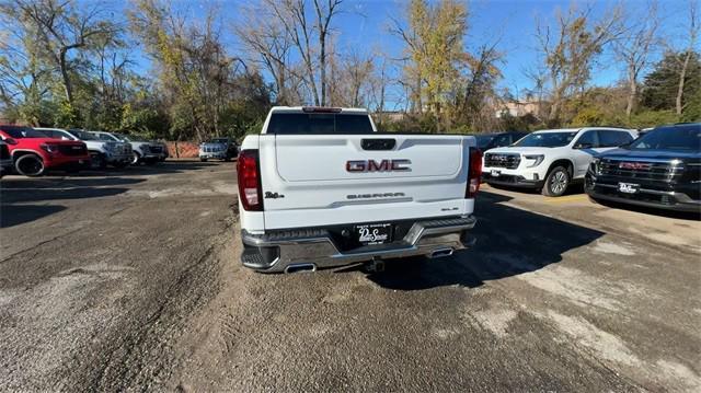
[(587, 175), (584, 190), (594, 199), (651, 207), (676, 211), (701, 211), (701, 200), (691, 199), (687, 194), (641, 187), (635, 194), (621, 194), (618, 184), (597, 182)]

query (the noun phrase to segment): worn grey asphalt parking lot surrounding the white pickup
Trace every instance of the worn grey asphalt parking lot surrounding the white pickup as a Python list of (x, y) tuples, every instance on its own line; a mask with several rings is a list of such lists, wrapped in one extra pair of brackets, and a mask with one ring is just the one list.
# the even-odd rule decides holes
[(0, 391), (701, 390), (693, 217), (485, 186), (473, 250), (261, 275), (233, 163), (0, 187)]

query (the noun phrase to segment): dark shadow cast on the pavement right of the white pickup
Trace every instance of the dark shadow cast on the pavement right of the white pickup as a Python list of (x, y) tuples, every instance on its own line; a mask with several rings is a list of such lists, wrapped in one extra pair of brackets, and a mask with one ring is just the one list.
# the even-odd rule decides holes
[(587, 245), (605, 233), (503, 205), (510, 198), (481, 192), (472, 231), (472, 250), (450, 257), (386, 262), (382, 273), (367, 276), (379, 286), (421, 290), (445, 286), (479, 287), (489, 280), (536, 271), (562, 261), (571, 250)]

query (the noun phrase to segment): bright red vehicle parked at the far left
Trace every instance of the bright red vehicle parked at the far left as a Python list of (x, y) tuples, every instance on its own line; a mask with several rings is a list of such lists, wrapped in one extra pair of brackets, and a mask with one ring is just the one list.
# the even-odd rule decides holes
[(0, 138), (8, 143), (18, 173), (41, 176), (48, 170), (77, 172), (90, 164), (85, 143), (60, 140), (25, 126), (0, 125)]

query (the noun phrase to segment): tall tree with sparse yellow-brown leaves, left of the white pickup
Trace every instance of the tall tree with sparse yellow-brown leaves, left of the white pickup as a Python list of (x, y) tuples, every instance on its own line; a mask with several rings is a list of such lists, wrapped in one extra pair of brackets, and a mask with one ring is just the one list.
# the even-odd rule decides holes
[(240, 58), (227, 55), (216, 15), (209, 8), (202, 23), (193, 22), (158, 0), (139, 0), (129, 12), (135, 34), (160, 67), (164, 95), (188, 115), (198, 140), (222, 134), (232, 79), (245, 71)]

